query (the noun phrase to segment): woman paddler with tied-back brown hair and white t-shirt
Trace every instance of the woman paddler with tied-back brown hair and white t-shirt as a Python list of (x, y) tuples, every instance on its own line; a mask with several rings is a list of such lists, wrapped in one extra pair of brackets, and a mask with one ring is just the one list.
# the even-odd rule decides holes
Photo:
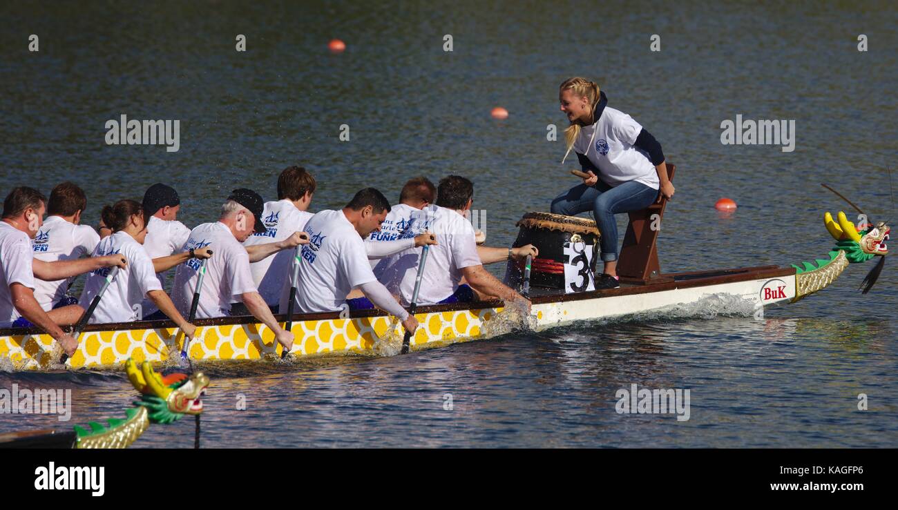
[[(134, 200), (119, 200), (114, 206), (103, 207), (101, 216), (112, 234), (97, 244), (94, 254), (125, 255), (128, 258), (128, 268), (119, 271), (119, 275), (110, 283), (94, 309), (90, 323), (139, 321), (142, 316), (140, 303), (144, 297), (148, 297), (192, 339), (196, 326), (184, 320), (165, 294), (156, 277), (153, 259), (150, 259), (144, 249), (144, 208)], [(84, 282), (81, 300), (75, 306), (87, 309), (93, 297), (100, 292), (107, 274), (106, 269), (92, 271)]]

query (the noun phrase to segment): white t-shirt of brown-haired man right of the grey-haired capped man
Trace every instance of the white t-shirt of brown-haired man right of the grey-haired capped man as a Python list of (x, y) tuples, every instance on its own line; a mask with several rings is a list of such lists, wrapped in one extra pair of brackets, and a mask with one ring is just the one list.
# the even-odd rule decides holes
[[(262, 223), (266, 233), (253, 233), (243, 246), (254, 246), (268, 242), (284, 241), (297, 231), (302, 231), (305, 222), (313, 216), (308, 211), (300, 211), (288, 199), (266, 202), (262, 213)], [(292, 274), (293, 250), (278, 251), (274, 255), (250, 264), (252, 281), (259, 287), (259, 294), (265, 303), (274, 306), (280, 300), (281, 288)]]

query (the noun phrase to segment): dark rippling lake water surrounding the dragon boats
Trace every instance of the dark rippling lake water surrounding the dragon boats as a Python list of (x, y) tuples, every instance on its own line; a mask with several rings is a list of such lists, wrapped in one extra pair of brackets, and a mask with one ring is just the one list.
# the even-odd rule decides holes
[[(885, 172), (898, 140), (890, 3), (5, 2), (0, 19), (0, 191), (75, 180), (91, 222), (162, 180), (192, 226), (238, 186), (275, 198), (277, 173), (299, 163), (319, 181), (315, 210), (363, 186), (397, 198), (415, 175), (469, 176), (489, 243), (506, 245), (520, 215), (575, 182), (545, 136), (563, 128), (568, 75), (598, 81), (678, 166), (665, 270), (822, 257), (823, 211), (850, 210), (820, 182), (898, 222)], [(327, 52), (335, 37), (341, 55)], [(494, 106), (510, 117), (490, 119)], [(106, 120), (123, 113), (180, 119), (180, 151), (105, 145)], [(795, 151), (721, 145), (720, 122), (736, 114), (795, 119)], [(713, 209), (724, 196), (735, 215)], [(709, 302), (409, 356), (209, 365), (203, 444), (895, 446), (896, 277), (887, 264), (861, 296), (870, 267), (764, 321)], [(132, 392), (115, 374), (0, 374), (0, 387), (13, 382), (73, 389), (73, 422), (0, 415), (0, 431), (120, 416)], [(615, 391), (632, 383), (690, 389), (691, 418), (617, 414)], [(154, 426), (138, 444), (190, 446), (193, 426)]]

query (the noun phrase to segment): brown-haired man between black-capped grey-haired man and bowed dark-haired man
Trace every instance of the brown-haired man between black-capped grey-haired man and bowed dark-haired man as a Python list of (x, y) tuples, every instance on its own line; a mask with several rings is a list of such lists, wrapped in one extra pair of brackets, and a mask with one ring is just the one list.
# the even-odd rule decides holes
[[(243, 242), (243, 246), (284, 241), (291, 234), (301, 232), (305, 222), (312, 217), (308, 208), (315, 187), (315, 178), (302, 167), (291, 166), (281, 171), (277, 177), (277, 201), (266, 202), (262, 211), (262, 223), (267, 231), (253, 233)], [(250, 264), (252, 281), (275, 313), (281, 288), (290, 277), (294, 256), (294, 251), (280, 251)]]

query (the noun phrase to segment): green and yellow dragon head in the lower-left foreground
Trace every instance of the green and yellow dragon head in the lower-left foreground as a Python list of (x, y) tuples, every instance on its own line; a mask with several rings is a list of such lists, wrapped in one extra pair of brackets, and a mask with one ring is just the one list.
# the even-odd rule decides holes
[(201, 373), (169, 374), (162, 376), (144, 362), (137, 369), (133, 360), (125, 364), (128, 379), (137, 391), (142, 393), (135, 405), (146, 408), (152, 423), (172, 423), (184, 415), (198, 415), (203, 412), (203, 394), (209, 385), (209, 378)]

